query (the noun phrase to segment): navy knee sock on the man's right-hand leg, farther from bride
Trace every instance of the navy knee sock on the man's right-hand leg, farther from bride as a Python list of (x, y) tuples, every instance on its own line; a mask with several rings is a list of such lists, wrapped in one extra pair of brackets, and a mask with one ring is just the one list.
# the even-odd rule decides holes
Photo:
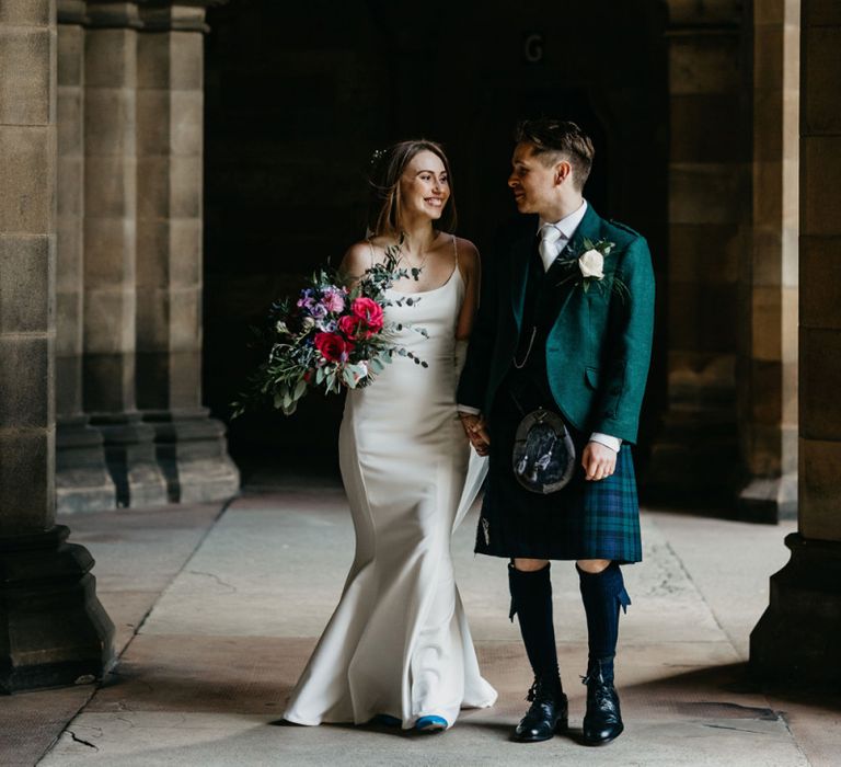
[(613, 657), (619, 639), (619, 608), (627, 611), (631, 598), (625, 591), (622, 570), (611, 562), (600, 573), (587, 573), (576, 565), (581, 586), (581, 600), (587, 614), (589, 662), (587, 675), (598, 673), (613, 683)]

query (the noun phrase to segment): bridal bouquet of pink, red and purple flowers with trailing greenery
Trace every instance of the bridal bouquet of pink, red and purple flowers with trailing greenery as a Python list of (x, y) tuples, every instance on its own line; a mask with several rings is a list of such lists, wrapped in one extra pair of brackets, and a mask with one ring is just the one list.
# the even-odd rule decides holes
[(391, 363), (394, 355), (408, 357), (416, 365), (427, 363), (395, 345), (394, 333), (408, 327), (424, 337), (423, 328), (387, 322), (388, 306), (412, 306), (419, 298), (389, 298), (392, 283), (418, 270), (400, 268), (400, 245), (385, 251), (385, 261), (366, 270), (353, 287), (329, 268), (315, 272), (297, 298), (272, 305), (265, 334), (268, 352), (249, 380), (249, 390), (231, 403), (233, 417), (251, 402), (269, 401), (291, 415), (298, 401), (310, 390), (338, 393), (342, 388), (368, 386)]

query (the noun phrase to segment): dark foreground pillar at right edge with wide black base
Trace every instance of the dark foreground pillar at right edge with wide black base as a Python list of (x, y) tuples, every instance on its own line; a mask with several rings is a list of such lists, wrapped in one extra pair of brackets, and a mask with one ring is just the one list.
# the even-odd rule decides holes
[(841, 7), (800, 15), (799, 471), (792, 558), (750, 637), (767, 679), (841, 684)]

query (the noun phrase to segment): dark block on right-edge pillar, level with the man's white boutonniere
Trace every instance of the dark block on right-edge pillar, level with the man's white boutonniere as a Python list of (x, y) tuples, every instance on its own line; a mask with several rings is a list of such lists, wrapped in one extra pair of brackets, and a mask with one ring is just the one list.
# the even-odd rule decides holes
[(800, 279), (804, 327), (841, 330), (841, 237), (800, 239)]

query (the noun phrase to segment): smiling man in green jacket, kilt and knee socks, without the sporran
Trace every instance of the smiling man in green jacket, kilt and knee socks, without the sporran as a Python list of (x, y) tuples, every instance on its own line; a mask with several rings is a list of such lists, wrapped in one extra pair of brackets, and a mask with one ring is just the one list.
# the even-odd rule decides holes
[[(631, 599), (619, 565), (642, 559), (629, 445), (648, 375), (654, 275), (645, 239), (581, 196), (594, 149), (577, 125), (528, 121), (516, 140), (508, 186), (525, 215), (483, 260), (458, 391), (468, 437), (489, 455), (476, 551), (509, 560), (510, 618), (534, 672), (520, 742), (567, 726), (550, 560), (576, 562), (589, 649), (584, 741), (601, 745), (623, 730), (613, 659)], [(526, 489), (512, 469), (518, 426), (540, 408), (563, 419), (575, 445), (572, 480), (550, 494)]]

